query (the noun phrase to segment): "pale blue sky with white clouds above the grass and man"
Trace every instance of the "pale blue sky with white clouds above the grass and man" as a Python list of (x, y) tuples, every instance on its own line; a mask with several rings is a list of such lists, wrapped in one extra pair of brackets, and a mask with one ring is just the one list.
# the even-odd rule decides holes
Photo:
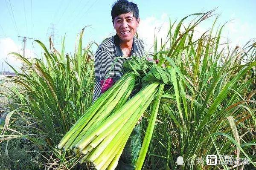
[[(20, 61), (9, 54), (23, 54), (23, 38), (40, 40), (49, 44), (49, 35), (54, 35), (55, 48), (61, 49), (65, 36), (65, 53), (76, 49), (78, 35), (84, 31), (83, 46), (95, 41), (101, 43), (115, 34), (111, 19), (111, 7), (115, 0), (0, 0), (0, 71), (12, 71), (6, 61), (15, 68)], [(139, 37), (145, 42), (145, 50), (151, 51), (155, 30), (161, 27), (157, 36), (165, 39), (169, 17), (171, 22), (180, 21), (189, 14), (215, 9), (214, 16), (197, 27), (198, 36), (211, 28), (219, 14), (217, 27), (224, 26), (222, 36), (233, 46), (244, 46), (249, 40), (256, 40), (256, 0), (133, 0), (140, 13)], [(188, 24), (194, 17), (184, 22)], [(217, 28), (216, 28), (217, 29)], [(41, 58), (42, 49), (27, 39), (26, 58)], [(48, 46), (48, 45), (47, 45)], [(93, 47), (96, 49), (96, 46)]]

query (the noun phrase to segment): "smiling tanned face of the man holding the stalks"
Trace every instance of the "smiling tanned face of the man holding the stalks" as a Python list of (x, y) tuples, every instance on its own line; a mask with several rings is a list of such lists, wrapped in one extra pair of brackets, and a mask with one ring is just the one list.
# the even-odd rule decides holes
[(139, 23), (140, 18), (136, 19), (131, 12), (127, 14), (120, 14), (115, 17), (114, 28), (122, 42), (129, 42), (133, 40)]

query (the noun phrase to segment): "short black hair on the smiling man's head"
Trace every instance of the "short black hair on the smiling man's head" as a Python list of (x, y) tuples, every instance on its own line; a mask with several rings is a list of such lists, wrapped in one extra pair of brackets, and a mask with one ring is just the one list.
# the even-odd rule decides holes
[(137, 4), (129, 2), (128, 0), (117, 0), (111, 10), (112, 22), (114, 23), (115, 17), (120, 14), (133, 13), (133, 16), (139, 18), (139, 9)]

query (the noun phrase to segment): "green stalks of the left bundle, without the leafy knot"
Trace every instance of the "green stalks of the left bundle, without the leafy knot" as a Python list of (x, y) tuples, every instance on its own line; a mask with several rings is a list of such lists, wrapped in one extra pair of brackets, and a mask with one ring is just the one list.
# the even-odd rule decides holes
[(102, 123), (112, 111), (125, 103), (134, 88), (136, 75), (128, 71), (110, 89), (101, 95), (79, 118), (58, 144), (63, 150), (72, 149), (90, 127)]

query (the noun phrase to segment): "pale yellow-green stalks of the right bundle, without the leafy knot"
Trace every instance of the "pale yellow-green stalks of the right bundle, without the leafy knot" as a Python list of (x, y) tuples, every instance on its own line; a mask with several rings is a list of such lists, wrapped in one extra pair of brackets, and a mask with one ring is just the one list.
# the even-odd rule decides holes
[[(156, 95), (158, 84), (152, 83), (146, 86), (102, 122), (101, 126), (95, 129), (93, 133), (85, 134), (84, 140), (77, 144), (82, 153), (90, 153), (87, 161), (91, 161), (96, 169), (106, 167), (106, 164), (110, 164), (116, 154), (119, 153), (119, 149), (128, 140), (140, 116), (143, 115), (143, 112)], [(117, 147), (113, 149), (114, 146)], [(84, 149), (89, 150), (85, 151)]]

